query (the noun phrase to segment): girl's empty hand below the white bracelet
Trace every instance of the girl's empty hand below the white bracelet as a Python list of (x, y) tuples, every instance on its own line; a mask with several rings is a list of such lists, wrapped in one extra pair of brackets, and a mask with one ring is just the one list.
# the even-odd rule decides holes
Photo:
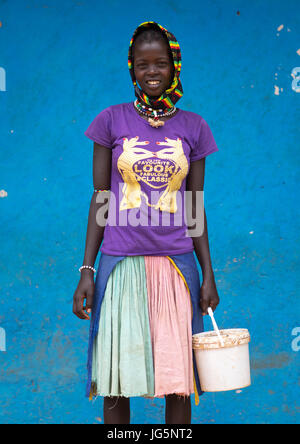
[[(94, 274), (91, 270), (82, 270), (81, 278), (73, 296), (73, 313), (79, 318), (90, 320), (88, 313), (93, 306), (95, 291)], [(84, 306), (84, 300), (86, 304)]]

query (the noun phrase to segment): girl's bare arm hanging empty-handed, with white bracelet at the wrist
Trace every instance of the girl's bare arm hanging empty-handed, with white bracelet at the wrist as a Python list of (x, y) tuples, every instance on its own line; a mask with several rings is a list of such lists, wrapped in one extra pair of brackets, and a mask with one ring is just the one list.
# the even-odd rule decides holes
[[(110, 189), (111, 149), (94, 143), (93, 154), (93, 185), (95, 190)], [(96, 257), (103, 240), (105, 226), (96, 221), (97, 211), (105, 205), (96, 202), (97, 193), (92, 194), (85, 242), (83, 265), (94, 266)], [(81, 278), (73, 296), (73, 313), (80, 319), (90, 319), (86, 312), (90, 312), (94, 296), (94, 274), (90, 269), (81, 271)], [(86, 306), (84, 307), (84, 300)]]

